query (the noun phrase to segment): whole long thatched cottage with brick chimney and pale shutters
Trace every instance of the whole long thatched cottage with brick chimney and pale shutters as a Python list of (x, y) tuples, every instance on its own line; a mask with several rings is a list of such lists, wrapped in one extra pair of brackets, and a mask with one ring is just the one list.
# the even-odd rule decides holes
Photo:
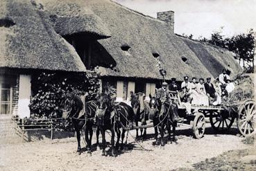
[(15, 105), (28, 109), (34, 71), (96, 67), (103, 85), (117, 87), (117, 100), (130, 91), (154, 93), (162, 79), (159, 62), (167, 80), (215, 78), (223, 67), (241, 71), (229, 51), (176, 35), (172, 11), (155, 19), (110, 0), (4, 0), (0, 8), (0, 81), (12, 92), (9, 114)]

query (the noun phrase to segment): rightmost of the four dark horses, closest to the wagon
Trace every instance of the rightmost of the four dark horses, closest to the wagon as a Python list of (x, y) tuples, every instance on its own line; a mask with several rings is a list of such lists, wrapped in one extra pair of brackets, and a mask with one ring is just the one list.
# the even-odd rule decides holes
[[(165, 111), (163, 114), (160, 114), (161, 110), (161, 102), (157, 100), (157, 98), (152, 97), (150, 95), (151, 100), (149, 101), (149, 118), (153, 120), (153, 125), (155, 129), (155, 143), (159, 145), (161, 143), (164, 146), (164, 131), (167, 129), (168, 131), (168, 140), (175, 141), (175, 131), (176, 131), (176, 122), (172, 120), (172, 112), (177, 112), (177, 108), (175, 104), (172, 103), (164, 103)], [(171, 126), (173, 127), (173, 138), (171, 138)], [(160, 142), (157, 138), (158, 130), (160, 131)]]

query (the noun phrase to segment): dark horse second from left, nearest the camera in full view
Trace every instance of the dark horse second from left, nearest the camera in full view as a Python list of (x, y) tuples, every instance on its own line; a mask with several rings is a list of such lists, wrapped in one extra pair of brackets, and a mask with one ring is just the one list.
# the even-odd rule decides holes
[[(126, 133), (126, 129), (133, 124), (134, 112), (132, 107), (124, 102), (113, 102), (110, 95), (102, 93), (99, 95), (97, 110), (96, 110), (96, 124), (102, 135), (103, 155), (105, 152), (105, 131), (109, 129), (111, 131), (111, 146), (112, 156), (115, 156), (114, 152), (114, 134), (117, 133), (117, 143), (115, 148), (119, 150), (119, 141), (121, 136), (121, 147), (123, 150), (123, 138)], [(121, 130), (122, 129), (122, 132)], [(98, 136), (97, 136), (98, 137)], [(97, 142), (98, 138), (97, 138)]]

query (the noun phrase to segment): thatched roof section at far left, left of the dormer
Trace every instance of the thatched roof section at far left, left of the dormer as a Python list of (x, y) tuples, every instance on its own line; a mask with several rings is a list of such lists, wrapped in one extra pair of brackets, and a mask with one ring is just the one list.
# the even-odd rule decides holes
[(29, 0), (0, 1), (0, 67), (86, 71), (49, 16)]

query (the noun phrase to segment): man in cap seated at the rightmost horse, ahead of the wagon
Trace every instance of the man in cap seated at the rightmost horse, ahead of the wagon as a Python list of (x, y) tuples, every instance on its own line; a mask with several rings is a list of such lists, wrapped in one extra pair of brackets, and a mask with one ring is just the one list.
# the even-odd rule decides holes
[(178, 112), (177, 112), (178, 111), (178, 107), (177, 107), (177, 105), (171, 101), (170, 95), (169, 95), (169, 93), (167, 91), (167, 82), (163, 82), (162, 83), (162, 88), (157, 89), (157, 91), (156, 91), (156, 98), (157, 98), (158, 101), (161, 102), (160, 116), (162, 114), (164, 114), (165, 112), (167, 112), (166, 111), (166, 107), (164, 106), (165, 104), (167, 104), (167, 105), (171, 105), (171, 107), (170, 107), (170, 109), (172, 110), (171, 114), (173, 114), (171, 116), (172, 120), (176, 121), (176, 122), (182, 120), (182, 118), (180, 118), (178, 116)]

